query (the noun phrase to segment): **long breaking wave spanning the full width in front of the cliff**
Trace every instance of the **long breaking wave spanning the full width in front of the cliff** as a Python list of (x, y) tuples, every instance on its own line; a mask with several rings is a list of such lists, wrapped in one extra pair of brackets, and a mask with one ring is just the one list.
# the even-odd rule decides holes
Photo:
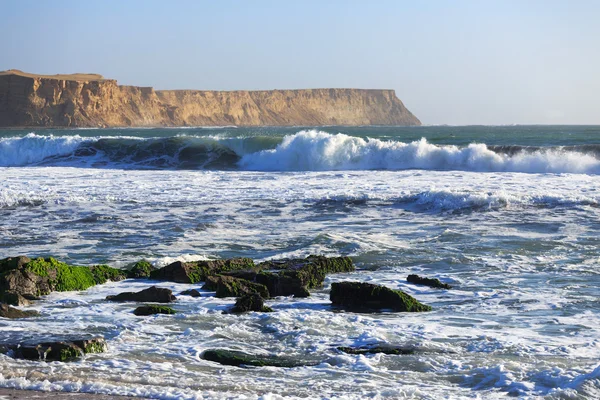
[(459, 170), (600, 173), (600, 145), (467, 146), (360, 138), (317, 130), (284, 137), (37, 135), (0, 139), (0, 166), (253, 171)]

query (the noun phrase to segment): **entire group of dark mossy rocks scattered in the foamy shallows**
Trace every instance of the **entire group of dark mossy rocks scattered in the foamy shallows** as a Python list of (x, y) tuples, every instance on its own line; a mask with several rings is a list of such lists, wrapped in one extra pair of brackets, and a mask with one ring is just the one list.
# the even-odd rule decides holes
[[(355, 270), (356, 267), (349, 257), (317, 255), (258, 264), (250, 258), (177, 261), (162, 268), (155, 268), (149, 262), (140, 260), (128, 269), (116, 269), (107, 265), (75, 266), (51, 257), (9, 257), (0, 260), (0, 317), (35, 318), (39, 313), (13, 306), (27, 307), (43, 301), (40, 296), (55, 291), (81, 291), (108, 281), (124, 279), (190, 285), (203, 283), (202, 289), (214, 291), (215, 297), (234, 299), (232, 307), (224, 311), (225, 313), (277, 312), (268, 305), (270, 299), (279, 296), (309, 297), (310, 290), (323, 287), (328, 274)], [(446, 288), (437, 279), (417, 278), (411, 276), (409, 281)], [(131, 312), (143, 317), (153, 314), (176, 314), (177, 296), (200, 297), (202, 294), (194, 288), (174, 294), (170, 289), (151, 284), (138, 292), (107, 296), (105, 301), (137, 303), (132, 305)], [(332, 310), (341, 312), (427, 312), (432, 309), (400, 290), (364, 282), (343, 281), (332, 284), (330, 300)], [(86, 354), (104, 352), (107, 346), (103, 337), (65, 335), (53, 340), (29, 339), (18, 343), (0, 343), (0, 352), (14, 358), (66, 362), (81, 359)], [(414, 351), (393, 346), (344, 347), (337, 350), (350, 354), (406, 354)], [(275, 355), (247, 354), (228, 349), (206, 350), (202, 358), (234, 366), (295, 367), (315, 364), (314, 360), (303, 362)]]

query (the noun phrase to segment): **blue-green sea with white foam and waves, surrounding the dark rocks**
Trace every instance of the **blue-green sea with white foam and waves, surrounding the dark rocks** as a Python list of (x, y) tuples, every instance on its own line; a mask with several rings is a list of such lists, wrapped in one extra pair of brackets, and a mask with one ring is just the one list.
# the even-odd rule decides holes
[[(274, 313), (178, 297), (174, 316), (103, 299), (150, 281), (53, 293), (3, 340), (107, 339), (70, 363), (0, 355), (0, 386), (157, 399), (597, 399), (600, 127), (428, 126), (0, 131), (0, 258), (115, 267), (148, 259), (347, 255)], [(437, 277), (452, 290), (408, 284)], [(332, 282), (401, 289), (427, 313), (333, 310)], [(199, 285), (158, 283), (175, 293)], [(350, 355), (389, 344), (411, 355)], [(206, 349), (316, 366), (237, 368)]]

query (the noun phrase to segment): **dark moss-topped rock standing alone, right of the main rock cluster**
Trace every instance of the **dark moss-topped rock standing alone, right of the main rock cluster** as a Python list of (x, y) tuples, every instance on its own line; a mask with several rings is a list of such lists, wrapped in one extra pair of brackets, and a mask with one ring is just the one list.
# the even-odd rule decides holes
[(329, 295), (333, 305), (349, 310), (382, 310), (421, 312), (431, 307), (419, 303), (401, 290), (362, 282), (338, 282), (331, 285)]

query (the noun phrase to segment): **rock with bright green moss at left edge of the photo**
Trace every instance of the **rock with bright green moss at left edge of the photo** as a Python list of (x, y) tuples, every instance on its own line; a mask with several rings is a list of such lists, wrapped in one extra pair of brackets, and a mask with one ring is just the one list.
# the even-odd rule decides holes
[(108, 280), (125, 278), (123, 271), (106, 265), (80, 267), (49, 258), (0, 260), (0, 293), (41, 296), (53, 291), (85, 290)]

